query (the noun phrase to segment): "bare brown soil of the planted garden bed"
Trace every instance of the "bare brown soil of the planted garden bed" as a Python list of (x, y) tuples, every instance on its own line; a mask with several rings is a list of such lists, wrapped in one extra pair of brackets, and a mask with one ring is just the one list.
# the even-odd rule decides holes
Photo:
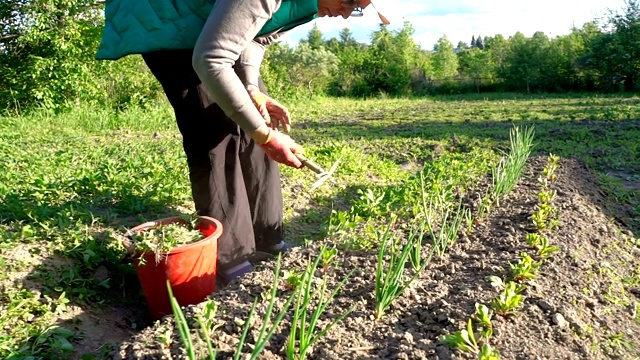
[[(334, 288), (352, 272), (344, 289), (321, 317), (328, 324), (352, 312), (313, 346), (311, 359), (467, 359), (469, 354), (439, 343), (444, 334), (463, 329), (476, 303), (489, 304), (499, 290), (487, 276), (505, 278), (509, 263), (530, 250), (524, 241), (535, 231), (530, 216), (538, 201), (537, 176), (546, 158), (532, 158), (514, 191), (477, 225), (461, 235), (448, 254), (434, 258), (381, 320), (373, 319), (375, 251), (340, 251), (327, 275)], [(529, 282), (523, 306), (506, 318), (493, 319), (491, 345), (503, 359), (640, 358), (640, 244), (625, 228), (631, 213), (611, 203), (598, 188), (598, 177), (576, 160), (563, 159), (552, 183), (558, 196), (559, 228), (550, 234), (560, 247)], [(327, 240), (327, 241), (330, 241)], [(295, 249), (283, 257), (283, 269), (302, 269), (321, 244)], [(218, 358), (231, 358), (253, 300), (270, 288), (275, 261), (213, 294), (220, 304), (213, 334)], [(317, 274), (320, 276), (320, 273)], [(290, 294), (281, 281), (274, 312)], [(187, 318), (200, 305), (185, 308)], [(313, 307), (312, 307), (313, 308)], [(266, 309), (259, 303), (247, 342), (253, 344)], [(276, 330), (261, 359), (283, 359), (290, 315)], [(170, 344), (159, 338), (170, 335)], [(249, 347), (245, 351), (250, 351)], [(123, 341), (114, 359), (186, 359), (173, 318), (165, 317)]]

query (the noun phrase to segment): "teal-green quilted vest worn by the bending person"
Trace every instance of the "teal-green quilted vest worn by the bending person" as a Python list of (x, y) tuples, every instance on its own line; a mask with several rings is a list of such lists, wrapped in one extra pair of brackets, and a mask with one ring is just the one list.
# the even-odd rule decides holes
[[(193, 49), (215, 0), (106, 0), (97, 59)], [(286, 31), (316, 17), (317, 0), (283, 0), (258, 35)]]

